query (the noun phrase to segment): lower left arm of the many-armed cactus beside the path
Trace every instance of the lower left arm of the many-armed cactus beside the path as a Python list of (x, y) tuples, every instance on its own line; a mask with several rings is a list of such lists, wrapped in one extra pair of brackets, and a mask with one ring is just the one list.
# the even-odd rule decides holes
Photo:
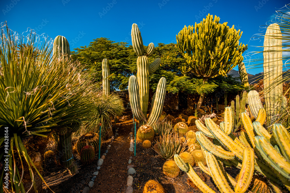
[(143, 113), (140, 107), (139, 85), (136, 76), (132, 75), (129, 78), (129, 100), (134, 117), (138, 120), (144, 120)]

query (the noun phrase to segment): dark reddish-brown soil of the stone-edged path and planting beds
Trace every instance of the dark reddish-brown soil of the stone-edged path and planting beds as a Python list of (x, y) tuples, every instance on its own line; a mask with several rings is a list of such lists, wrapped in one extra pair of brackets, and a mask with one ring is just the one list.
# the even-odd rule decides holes
[[(181, 111), (165, 111), (167, 114), (171, 114), (174, 117), (178, 117)], [(93, 188), (90, 188), (90, 193), (102, 192), (102, 193), (125, 193), (127, 182), (127, 166), (129, 157), (132, 156), (132, 163), (136, 170), (136, 174), (133, 175), (133, 189), (134, 193), (143, 192), (144, 184), (150, 180), (159, 181), (164, 189), (168, 193), (193, 193), (201, 192), (193, 183), (189, 180), (185, 172), (176, 178), (169, 178), (162, 172), (162, 166), (166, 160), (156, 154), (153, 149), (145, 149), (141, 143), (136, 145), (136, 156), (133, 152), (129, 151), (131, 128), (133, 128), (132, 114), (130, 110), (127, 110), (124, 115), (127, 117), (120, 119), (121, 125), (119, 126), (119, 135), (115, 138), (111, 144), (111, 148), (104, 159), (104, 163), (99, 170), (99, 174), (95, 179)], [(114, 125), (113, 125), (114, 126)], [(195, 128), (197, 130), (197, 128)], [(101, 147), (101, 155), (105, 152), (109, 140), (104, 141)], [(74, 155), (76, 157), (76, 155)], [(55, 165), (51, 160), (46, 163), (44, 168), (44, 179), (49, 187), (56, 193), (77, 193), (87, 186), (90, 179), (94, 176), (93, 172), (97, 171), (97, 155), (95, 161), (91, 165), (82, 165), (79, 160), (76, 159), (79, 173), (74, 176), (70, 176), (68, 171), (60, 166)], [(233, 176), (237, 173), (235, 168), (228, 168), (228, 172)], [(195, 166), (195, 171), (200, 177), (208, 184), (213, 190), (218, 192), (212, 179), (201, 172), (198, 166)], [(45, 184), (43, 183), (43, 186)], [(46, 192), (51, 192), (46, 187)]]

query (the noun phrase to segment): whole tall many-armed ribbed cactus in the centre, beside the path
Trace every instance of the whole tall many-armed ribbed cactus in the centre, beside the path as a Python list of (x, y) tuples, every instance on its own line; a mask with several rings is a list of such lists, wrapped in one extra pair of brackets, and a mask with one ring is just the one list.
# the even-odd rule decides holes
[[(129, 79), (130, 103), (136, 119), (145, 122), (149, 100), (149, 73), (154, 73), (158, 69), (160, 58), (155, 59), (149, 64), (148, 56), (153, 55), (155, 47), (153, 43), (150, 43), (147, 49), (144, 50), (141, 33), (136, 23), (132, 25), (131, 36), (133, 49), (138, 58), (137, 78), (131, 76)], [(153, 123), (159, 119), (164, 103), (165, 91), (166, 79), (161, 78), (157, 86), (156, 96), (148, 122)]]

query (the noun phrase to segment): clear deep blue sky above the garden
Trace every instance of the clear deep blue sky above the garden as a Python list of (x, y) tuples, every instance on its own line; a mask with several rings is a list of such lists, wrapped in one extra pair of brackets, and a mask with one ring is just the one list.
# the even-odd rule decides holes
[[(243, 31), (240, 42), (248, 44), (246, 52), (251, 52), (258, 51), (255, 47), (263, 43), (262, 38), (252, 38), (265, 32), (260, 26), (266, 25), (275, 11), (287, 3), (289, 0), (2, 0), (0, 21), (7, 21), (11, 30), (21, 33), (31, 28), (52, 38), (65, 36), (73, 51), (100, 37), (131, 45), (133, 23), (138, 24), (144, 45), (176, 43), (176, 34), (184, 25), (200, 23), (209, 13), (219, 16), (220, 23), (228, 22), (230, 27), (235, 25), (235, 29)], [(261, 71), (262, 68), (248, 69), (251, 74)]]

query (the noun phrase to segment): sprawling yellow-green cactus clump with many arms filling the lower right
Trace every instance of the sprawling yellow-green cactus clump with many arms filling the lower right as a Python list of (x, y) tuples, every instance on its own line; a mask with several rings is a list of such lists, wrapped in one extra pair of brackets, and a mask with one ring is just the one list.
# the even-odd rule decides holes
[[(231, 108), (227, 107), (226, 122), (233, 120)], [(227, 115), (226, 115), (227, 114)], [(210, 118), (205, 120), (206, 127), (196, 121), (196, 139), (206, 152), (208, 170), (220, 192), (245, 192), (250, 185), (254, 170), (269, 179), (273, 190), (290, 190), (290, 135), (280, 124), (274, 124), (273, 136), (262, 126), (265, 120), (263, 109), (259, 110), (257, 120), (251, 122), (246, 113), (241, 113), (246, 132), (240, 137), (232, 133), (232, 124), (223, 123), (218, 127)], [(209, 135), (209, 133), (211, 135)], [(207, 137), (213, 136), (211, 141)], [(275, 138), (275, 139), (274, 139)], [(238, 181), (229, 177), (224, 171), (224, 161), (240, 168)], [(203, 168), (204, 169), (204, 168)], [(285, 180), (285, 177), (287, 180)], [(234, 191), (230, 188), (233, 187)]]

